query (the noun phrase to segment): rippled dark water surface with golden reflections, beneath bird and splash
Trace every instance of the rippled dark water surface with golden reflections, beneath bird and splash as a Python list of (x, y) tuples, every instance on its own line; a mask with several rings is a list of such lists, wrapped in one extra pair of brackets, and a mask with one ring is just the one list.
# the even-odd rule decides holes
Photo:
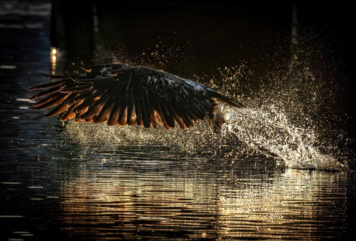
[[(64, 139), (66, 126), (42, 119), (27, 100), (26, 88), (43, 82), (36, 73), (49, 73), (51, 66), (49, 5), (33, 6), (39, 9), (0, 16), (1, 240), (355, 235), (352, 170), (291, 170), (257, 154), (217, 160), (169, 146), (121, 143), (109, 149), (95, 140), (80, 145)], [(345, 156), (354, 163), (354, 156)]]

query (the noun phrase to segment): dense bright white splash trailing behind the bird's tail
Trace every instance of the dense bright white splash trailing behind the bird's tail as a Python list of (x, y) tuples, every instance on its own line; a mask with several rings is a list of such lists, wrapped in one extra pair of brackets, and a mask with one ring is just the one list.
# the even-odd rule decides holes
[(321, 154), (315, 146), (313, 129), (297, 128), (273, 105), (258, 109), (235, 109), (227, 116), (228, 131), (253, 149), (283, 160), (289, 168), (338, 170), (334, 157)]

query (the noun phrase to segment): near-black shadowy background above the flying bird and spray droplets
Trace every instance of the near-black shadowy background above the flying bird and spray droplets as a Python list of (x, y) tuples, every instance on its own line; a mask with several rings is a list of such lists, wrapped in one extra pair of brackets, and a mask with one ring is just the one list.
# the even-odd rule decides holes
[[(78, 64), (82, 63), (124, 61), (133, 65), (150, 62), (151, 67), (195, 79), (194, 76), (209, 76), (218, 68), (237, 66), (245, 61), (249, 73), (254, 74), (239, 80), (242, 88), (246, 88), (246, 95), (250, 89), (259, 92), (261, 85), (271, 85), (266, 76), (276, 68), (293, 73), (291, 63), (296, 50), (317, 49), (320, 57), (311, 53), (321, 65), (316, 71), (325, 72), (320, 73), (325, 83), (332, 81), (337, 86), (331, 88), (335, 91), (333, 98), (326, 96), (321, 100), (326, 103), (318, 111), (327, 113), (322, 118), (330, 119), (332, 128), (343, 129), (348, 138), (355, 138), (352, 11), (342, 2), (332, 5), (308, 1), (214, 4), (206, 1), (52, 1), (51, 15), (43, 22), (45, 32), (41, 34), (44, 34), (43, 39), (49, 35), (50, 45), (60, 54), (55, 69), (48, 61), (49, 68), (56, 74), (78, 71)], [(14, 13), (6, 12), (6, 4), (2, 7), (2, 16), (5, 24), (38, 21), (34, 16), (16, 20)], [(297, 20), (294, 25), (293, 16)], [(304, 45), (292, 43), (293, 26), (297, 30), (297, 43), (303, 41)], [(11, 65), (16, 58), (21, 58), (18, 54), (21, 46), (29, 45), (33, 50), (44, 46), (41, 42), (28, 41), (28, 31), (33, 30), (2, 27), (1, 31), (2, 65)], [(49, 55), (50, 49), (47, 49)], [(176, 51), (164, 57), (164, 63), (155, 59), (167, 49)], [(142, 55), (156, 50), (160, 52), (151, 59)], [(105, 56), (105, 52), (110, 54)], [(98, 53), (100, 58), (95, 57)], [(31, 60), (48, 60), (38, 58), (37, 55)], [(26, 66), (24, 68), (25, 71)], [(0, 71), (1, 76), (9, 72)], [(32, 77), (33, 71), (27, 73), (31, 72)], [(282, 85), (289, 84), (282, 82)]]

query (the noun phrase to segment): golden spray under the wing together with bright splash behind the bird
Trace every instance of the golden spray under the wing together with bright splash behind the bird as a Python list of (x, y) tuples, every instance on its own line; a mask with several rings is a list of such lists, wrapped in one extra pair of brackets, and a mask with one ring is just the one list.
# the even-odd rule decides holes
[(170, 151), (182, 155), (241, 159), (246, 152), (257, 150), (289, 168), (339, 170), (343, 167), (334, 157), (320, 153), (313, 129), (290, 125), (274, 106), (233, 108), (226, 119), (229, 125), (219, 134), (214, 134), (206, 121), (185, 131), (69, 123), (64, 134), (82, 145), (90, 147), (94, 143), (119, 151), (122, 144), (138, 143), (168, 146)]

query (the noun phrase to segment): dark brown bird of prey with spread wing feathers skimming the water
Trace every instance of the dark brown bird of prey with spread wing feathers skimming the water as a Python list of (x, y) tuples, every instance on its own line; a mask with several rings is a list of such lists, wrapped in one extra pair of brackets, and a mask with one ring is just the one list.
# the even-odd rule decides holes
[(139, 125), (181, 129), (194, 126), (206, 117), (218, 133), (226, 123), (219, 101), (242, 107), (243, 104), (223, 96), (208, 86), (151, 68), (125, 64), (92, 65), (85, 74), (42, 76), (57, 79), (28, 90), (48, 89), (30, 100), (46, 96), (35, 110), (58, 105), (44, 118), (64, 112), (61, 120), (94, 122), (108, 125)]

